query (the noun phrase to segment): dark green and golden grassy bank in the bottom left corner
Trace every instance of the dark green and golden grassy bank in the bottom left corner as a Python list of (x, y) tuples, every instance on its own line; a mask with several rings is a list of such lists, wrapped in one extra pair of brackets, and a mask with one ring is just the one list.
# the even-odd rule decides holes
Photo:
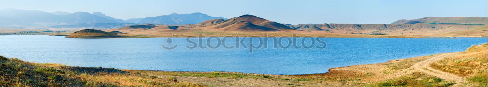
[(0, 56), (0, 87), (209, 87), (113, 68), (37, 64)]

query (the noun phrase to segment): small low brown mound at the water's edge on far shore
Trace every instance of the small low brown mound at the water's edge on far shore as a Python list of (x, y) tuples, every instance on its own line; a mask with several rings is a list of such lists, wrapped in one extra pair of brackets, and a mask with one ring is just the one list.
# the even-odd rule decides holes
[(122, 35), (117, 35), (102, 30), (95, 29), (83, 29), (76, 31), (75, 33), (67, 36), (68, 38), (118, 38), (123, 37)]

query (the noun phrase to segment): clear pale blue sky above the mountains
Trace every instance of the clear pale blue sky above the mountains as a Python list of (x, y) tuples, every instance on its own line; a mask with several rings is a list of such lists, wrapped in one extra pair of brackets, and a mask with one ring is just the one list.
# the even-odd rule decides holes
[(487, 17), (487, 0), (1, 0), (1, 9), (102, 12), (119, 18), (201, 12), (288, 24), (389, 24), (421, 17)]

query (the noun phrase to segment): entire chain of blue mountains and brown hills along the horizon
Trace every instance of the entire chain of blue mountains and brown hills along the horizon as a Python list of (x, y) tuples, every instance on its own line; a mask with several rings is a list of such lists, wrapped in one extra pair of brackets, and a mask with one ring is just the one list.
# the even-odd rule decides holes
[[(29, 28), (103, 28), (116, 29), (130, 25), (189, 25), (200, 24), (204, 28), (230, 30), (230, 31), (278, 31), (278, 30), (304, 30), (328, 31), (330, 29), (391, 29), (418, 26), (432, 28), (425, 24), (450, 25), (486, 25), (487, 17), (424, 17), (412, 20), (398, 20), (391, 24), (280, 24), (252, 15), (243, 15), (231, 19), (212, 17), (203, 13), (162, 15), (156, 17), (134, 18), (128, 20), (117, 19), (101, 12), (43, 12), (37, 10), (4, 9), (0, 10), (0, 27)], [(407, 24), (407, 25), (405, 25)], [(409, 25), (420, 24), (420, 25)]]

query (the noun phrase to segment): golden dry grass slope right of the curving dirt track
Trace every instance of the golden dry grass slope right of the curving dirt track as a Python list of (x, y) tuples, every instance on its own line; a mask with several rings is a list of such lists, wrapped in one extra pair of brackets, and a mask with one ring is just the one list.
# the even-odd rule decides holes
[(464, 52), (459, 52), (431, 66), (459, 76), (465, 76), (470, 82), (479, 82), (487, 86), (487, 43), (474, 45)]

